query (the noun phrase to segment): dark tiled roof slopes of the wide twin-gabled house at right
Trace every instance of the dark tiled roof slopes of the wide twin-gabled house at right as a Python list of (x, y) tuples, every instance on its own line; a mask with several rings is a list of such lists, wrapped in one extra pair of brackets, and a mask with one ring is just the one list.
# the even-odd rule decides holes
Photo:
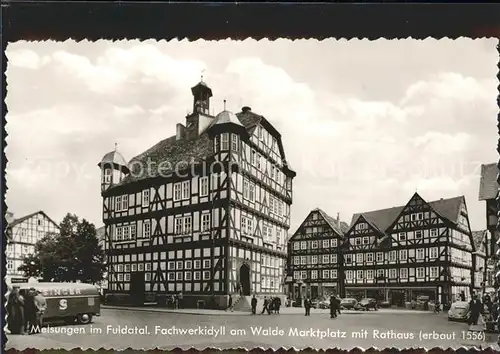
[[(460, 214), (460, 206), (462, 205), (463, 201), (464, 197), (460, 196), (449, 199), (440, 199), (428, 202), (428, 204), (441, 217), (456, 223)], [(391, 226), (391, 224), (396, 220), (399, 214), (401, 214), (404, 208), (405, 206), (398, 206), (388, 209), (354, 214), (351, 219), (351, 227), (356, 223), (360, 216), (363, 216), (372, 227), (375, 227), (381, 233), (385, 233), (387, 228)]]

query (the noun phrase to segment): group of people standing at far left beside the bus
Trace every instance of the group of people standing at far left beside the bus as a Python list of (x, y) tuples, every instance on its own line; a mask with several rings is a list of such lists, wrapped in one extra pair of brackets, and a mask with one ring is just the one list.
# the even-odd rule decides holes
[(7, 328), (11, 334), (38, 333), (47, 310), (42, 293), (30, 288), (24, 296), (19, 286), (14, 286), (7, 297)]

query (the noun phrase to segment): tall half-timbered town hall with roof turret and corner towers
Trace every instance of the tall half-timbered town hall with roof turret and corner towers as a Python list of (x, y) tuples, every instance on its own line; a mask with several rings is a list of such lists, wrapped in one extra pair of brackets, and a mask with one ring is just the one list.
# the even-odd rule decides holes
[(284, 293), (292, 180), (281, 135), (243, 107), (210, 114), (212, 90), (192, 89), (176, 135), (102, 171), (108, 292), (126, 301), (225, 307), (228, 294)]

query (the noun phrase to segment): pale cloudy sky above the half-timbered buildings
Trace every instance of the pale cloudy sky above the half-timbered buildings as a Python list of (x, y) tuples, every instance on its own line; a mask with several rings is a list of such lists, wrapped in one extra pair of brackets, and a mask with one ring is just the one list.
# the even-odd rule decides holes
[(97, 163), (175, 134), (203, 72), (217, 114), (250, 106), (282, 135), (293, 233), (310, 210), (354, 213), (466, 197), (473, 230), (482, 163), (496, 162), (496, 39), (16, 42), (6, 49), (7, 194), (102, 222)]

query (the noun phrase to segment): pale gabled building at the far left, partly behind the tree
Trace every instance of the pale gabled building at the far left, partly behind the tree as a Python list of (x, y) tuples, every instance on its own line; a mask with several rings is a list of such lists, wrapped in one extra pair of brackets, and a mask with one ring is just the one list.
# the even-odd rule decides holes
[(6, 282), (27, 281), (24, 274), (18, 271), (25, 257), (35, 253), (35, 244), (48, 233), (56, 233), (59, 226), (43, 211), (14, 219), (7, 220), (5, 234), (7, 247), (5, 257), (7, 261)]

